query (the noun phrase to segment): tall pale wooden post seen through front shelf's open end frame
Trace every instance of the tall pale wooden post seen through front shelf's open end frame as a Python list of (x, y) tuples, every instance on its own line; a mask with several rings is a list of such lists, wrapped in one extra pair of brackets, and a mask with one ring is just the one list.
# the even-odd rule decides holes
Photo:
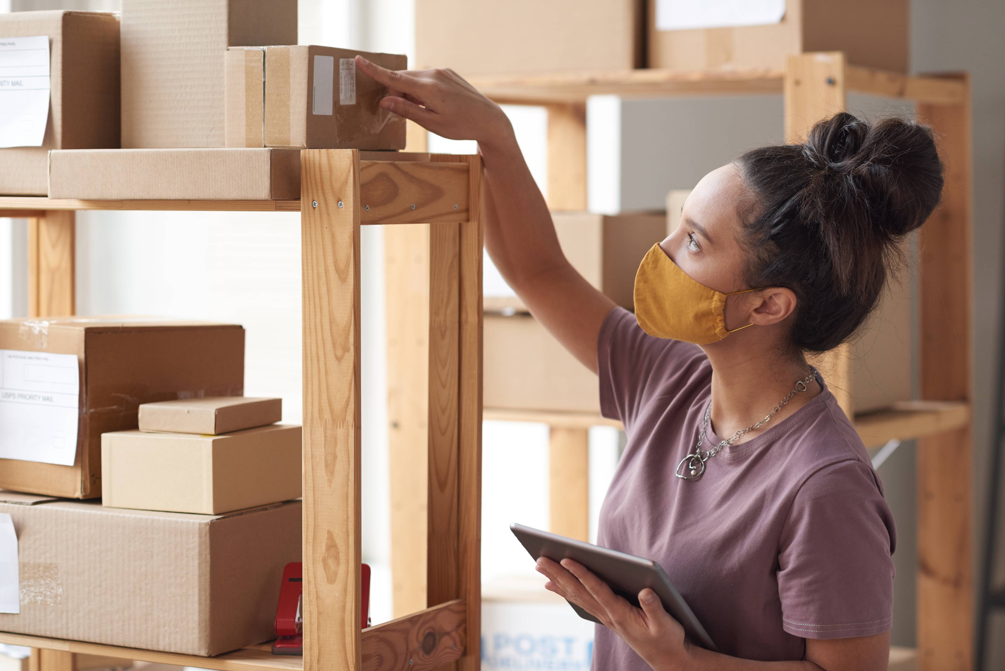
[(394, 617), (426, 608), (429, 224), (384, 228)]

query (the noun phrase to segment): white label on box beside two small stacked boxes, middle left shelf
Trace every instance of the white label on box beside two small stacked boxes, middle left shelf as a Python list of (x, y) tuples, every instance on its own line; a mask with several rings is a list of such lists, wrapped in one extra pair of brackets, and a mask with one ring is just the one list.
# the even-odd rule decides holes
[(75, 354), (0, 349), (0, 458), (72, 466), (79, 398)]

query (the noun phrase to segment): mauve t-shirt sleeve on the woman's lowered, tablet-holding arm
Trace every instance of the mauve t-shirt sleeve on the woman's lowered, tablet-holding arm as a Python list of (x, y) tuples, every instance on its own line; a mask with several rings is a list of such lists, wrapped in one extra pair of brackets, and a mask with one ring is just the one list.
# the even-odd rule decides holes
[(892, 624), (893, 517), (872, 470), (827, 466), (796, 493), (782, 529), (782, 626), (806, 639), (843, 639)]

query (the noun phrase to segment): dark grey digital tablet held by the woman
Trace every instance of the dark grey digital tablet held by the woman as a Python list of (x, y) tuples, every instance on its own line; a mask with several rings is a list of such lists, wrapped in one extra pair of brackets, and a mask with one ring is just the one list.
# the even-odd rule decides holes
[[(696, 643), (708, 650), (716, 649), (716, 644), (712, 642), (705, 627), (670, 582), (663, 567), (655, 561), (523, 524), (511, 524), (510, 529), (536, 560), (548, 557), (553, 561), (562, 559), (578, 561), (609, 584), (614, 594), (624, 597), (636, 608), (638, 593), (646, 588), (651, 589), (663, 602), (666, 612), (684, 628), (684, 634), (691, 643)], [(572, 602), (569, 602), (569, 606), (572, 606), (579, 617), (600, 624), (599, 620)]]

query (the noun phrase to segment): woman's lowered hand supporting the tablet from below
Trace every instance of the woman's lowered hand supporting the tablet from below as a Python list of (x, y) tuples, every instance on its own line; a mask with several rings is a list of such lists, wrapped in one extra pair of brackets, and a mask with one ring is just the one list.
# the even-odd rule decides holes
[(652, 590), (638, 594), (642, 608), (635, 608), (572, 559), (558, 563), (542, 557), (536, 567), (549, 579), (546, 589), (603, 623), (655, 671), (679, 671), (688, 667), (690, 646), (684, 641), (683, 627), (663, 610), (659, 597)]

